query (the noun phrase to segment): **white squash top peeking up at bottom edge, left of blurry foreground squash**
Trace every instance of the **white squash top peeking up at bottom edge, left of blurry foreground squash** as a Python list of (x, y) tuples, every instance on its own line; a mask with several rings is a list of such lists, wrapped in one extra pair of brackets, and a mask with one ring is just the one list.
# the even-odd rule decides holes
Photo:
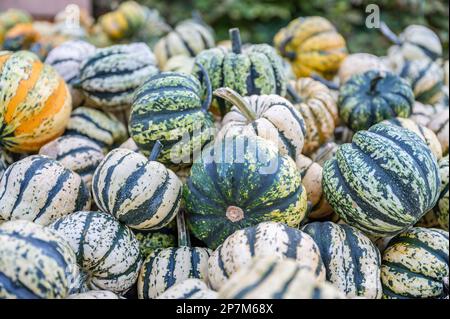
[(170, 287), (157, 299), (217, 299), (217, 292), (203, 280), (191, 278)]

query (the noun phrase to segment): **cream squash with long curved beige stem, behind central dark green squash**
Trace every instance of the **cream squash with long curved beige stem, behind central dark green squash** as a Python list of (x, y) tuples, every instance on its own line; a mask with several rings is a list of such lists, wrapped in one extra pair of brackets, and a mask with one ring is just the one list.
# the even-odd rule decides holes
[(288, 100), (274, 94), (242, 97), (228, 88), (217, 89), (214, 94), (233, 105), (216, 138), (259, 136), (274, 143), (283, 155), (294, 160), (301, 156), (306, 125)]

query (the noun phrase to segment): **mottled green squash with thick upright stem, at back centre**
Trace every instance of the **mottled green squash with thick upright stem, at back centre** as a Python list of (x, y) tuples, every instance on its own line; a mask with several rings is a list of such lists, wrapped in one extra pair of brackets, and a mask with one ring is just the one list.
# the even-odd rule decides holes
[[(204, 66), (211, 79), (213, 90), (228, 87), (242, 96), (276, 94), (285, 96), (286, 75), (281, 58), (274, 48), (267, 44), (250, 45), (242, 49), (239, 29), (230, 30), (232, 50), (217, 47), (197, 55), (195, 61)], [(194, 66), (193, 73), (206, 83), (202, 70)], [(213, 113), (224, 116), (231, 105), (214, 99)]]

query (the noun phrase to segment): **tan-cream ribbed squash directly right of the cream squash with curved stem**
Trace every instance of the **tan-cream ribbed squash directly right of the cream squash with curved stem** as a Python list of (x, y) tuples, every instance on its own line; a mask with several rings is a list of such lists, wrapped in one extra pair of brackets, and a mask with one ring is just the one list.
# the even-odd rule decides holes
[(303, 153), (310, 155), (333, 137), (339, 121), (336, 102), (325, 85), (311, 78), (292, 81), (288, 86), (288, 96), (305, 119)]

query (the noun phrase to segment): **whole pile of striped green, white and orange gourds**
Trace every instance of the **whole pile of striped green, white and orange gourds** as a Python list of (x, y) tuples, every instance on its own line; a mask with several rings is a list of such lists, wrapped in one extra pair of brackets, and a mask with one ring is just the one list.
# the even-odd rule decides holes
[(0, 13), (0, 299), (448, 298), (433, 31), (377, 57), (321, 17), (243, 45), (68, 14)]

